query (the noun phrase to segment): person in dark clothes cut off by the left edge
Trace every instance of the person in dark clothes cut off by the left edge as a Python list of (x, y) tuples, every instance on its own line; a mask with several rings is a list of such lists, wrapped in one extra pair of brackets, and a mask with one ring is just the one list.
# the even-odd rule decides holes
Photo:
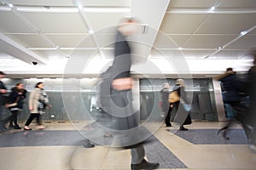
[(5, 76), (5, 73), (3, 71), (0, 71), (0, 131), (3, 131), (5, 129), (4, 125), (6, 123), (6, 119), (4, 118), (4, 105), (6, 104), (6, 94), (7, 94), (7, 88), (1, 81)]

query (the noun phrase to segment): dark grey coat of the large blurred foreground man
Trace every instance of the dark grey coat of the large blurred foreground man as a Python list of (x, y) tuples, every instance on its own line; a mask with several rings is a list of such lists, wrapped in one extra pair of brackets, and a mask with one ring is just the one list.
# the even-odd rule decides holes
[[(113, 79), (130, 77), (131, 69), (131, 48), (125, 40), (125, 36), (117, 31), (116, 42), (114, 44), (114, 59), (111, 67)], [(112, 114), (116, 115), (114, 128), (116, 130), (126, 130), (137, 127), (137, 114), (134, 114), (132, 107), (131, 90), (117, 91), (111, 89), (111, 98), (113, 100)]]

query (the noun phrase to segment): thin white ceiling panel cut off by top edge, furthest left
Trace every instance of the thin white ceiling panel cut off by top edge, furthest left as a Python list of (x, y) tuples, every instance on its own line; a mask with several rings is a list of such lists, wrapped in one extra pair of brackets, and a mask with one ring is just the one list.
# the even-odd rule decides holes
[(32, 5), (32, 6), (73, 6), (72, 0), (8, 0), (7, 2), (14, 5)]

